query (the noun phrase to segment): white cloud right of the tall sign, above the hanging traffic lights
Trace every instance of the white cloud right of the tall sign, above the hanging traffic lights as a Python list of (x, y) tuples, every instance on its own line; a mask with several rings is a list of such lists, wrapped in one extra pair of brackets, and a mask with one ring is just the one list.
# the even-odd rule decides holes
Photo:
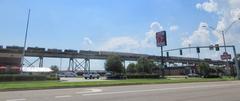
[(196, 31), (193, 32), (192, 35), (183, 39), (182, 45), (187, 47), (191, 46), (198, 46), (198, 45), (209, 45), (211, 43), (209, 37), (209, 31), (202, 26), (207, 26), (207, 23), (201, 22), (199, 27)]

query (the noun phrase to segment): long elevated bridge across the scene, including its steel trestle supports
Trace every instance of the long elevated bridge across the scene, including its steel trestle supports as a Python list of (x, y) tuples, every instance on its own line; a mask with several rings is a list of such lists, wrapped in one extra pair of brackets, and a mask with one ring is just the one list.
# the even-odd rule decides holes
[[(21, 59), (23, 52), (23, 47), (19, 46), (6, 46), (5, 48), (0, 46), (0, 57), (7, 58), (18, 58)], [(148, 54), (136, 54), (136, 53), (126, 53), (126, 52), (112, 52), (112, 51), (90, 51), (90, 50), (72, 50), (72, 49), (45, 49), (39, 47), (28, 47), (25, 50), (26, 57), (37, 57), (37, 60), (34, 62), (29, 62), (25, 59), (24, 64), (27, 66), (32, 66), (34, 63), (39, 62), (39, 66), (43, 66), (43, 58), (68, 58), (69, 67), (68, 70), (90, 70), (90, 59), (107, 59), (111, 55), (119, 55), (123, 62), (125, 61), (137, 61), (140, 57), (146, 57), (153, 59), (157, 62), (160, 62), (161, 59), (164, 62), (168, 63), (182, 63), (182, 64), (196, 64), (199, 62), (207, 62), (213, 65), (224, 65), (224, 61), (220, 60), (211, 60), (211, 59), (198, 59), (198, 58), (188, 58), (188, 57), (161, 57), (157, 55), (148, 55)], [(79, 61), (78, 59), (83, 59)], [(0, 59), (1, 61), (1, 59)], [(1, 63), (1, 62), (0, 62)]]

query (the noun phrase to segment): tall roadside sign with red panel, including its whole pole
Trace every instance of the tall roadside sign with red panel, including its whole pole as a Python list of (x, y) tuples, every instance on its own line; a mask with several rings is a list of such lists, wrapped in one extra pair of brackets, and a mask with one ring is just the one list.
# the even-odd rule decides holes
[(156, 44), (157, 47), (161, 47), (161, 66), (162, 66), (162, 77), (164, 77), (164, 61), (163, 61), (163, 46), (167, 45), (166, 31), (156, 32)]

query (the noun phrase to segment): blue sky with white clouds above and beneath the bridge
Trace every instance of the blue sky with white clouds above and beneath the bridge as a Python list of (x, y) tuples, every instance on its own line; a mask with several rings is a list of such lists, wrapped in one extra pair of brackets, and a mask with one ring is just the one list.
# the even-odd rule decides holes
[[(228, 29), (226, 43), (240, 53), (240, 0), (0, 0), (0, 45), (23, 46), (28, 9), (30, 47), (160, 55), (158, 31), (167, 32), (164, 49), (173, 49), (223, 45), (219, 32)], [(200, 57), (220, 59), (222, 52), (202, 49)], [(196, 57), (196, 50), (183, 56)], [(91, 64), (103, 69), (104, 61)], [(59, 59), (44, 59), (44, 65), (59, 65)]]

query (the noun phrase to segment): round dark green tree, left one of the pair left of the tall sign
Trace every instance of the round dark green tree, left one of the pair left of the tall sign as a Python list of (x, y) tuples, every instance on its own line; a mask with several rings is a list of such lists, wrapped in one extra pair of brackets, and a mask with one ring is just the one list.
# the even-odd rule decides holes
[(109, 56), (105, 63), (105, 70), (108, 72), (123, 73), (124, 67), (121, 58), (118, 55)]

